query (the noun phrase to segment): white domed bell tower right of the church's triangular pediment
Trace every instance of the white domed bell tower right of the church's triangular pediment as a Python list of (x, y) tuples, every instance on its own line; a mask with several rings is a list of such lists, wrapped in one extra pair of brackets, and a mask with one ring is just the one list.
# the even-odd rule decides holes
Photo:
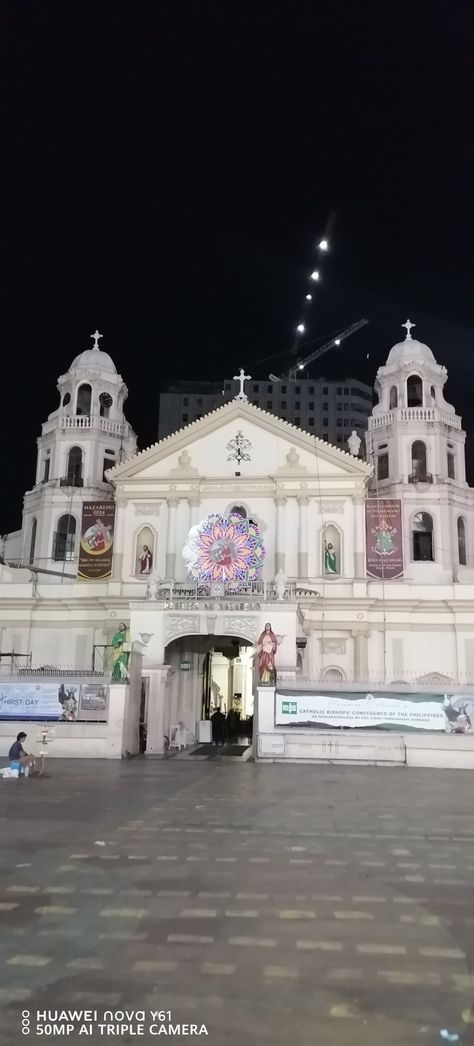
[(447, 403), (446, 367), (411, 336), (390, 349), (376, 379), (379, 403), (368, 419), (373, 492), (401, 498), (405, 576), (450, 581), (471, 562), (471, 492), (461, 419)]

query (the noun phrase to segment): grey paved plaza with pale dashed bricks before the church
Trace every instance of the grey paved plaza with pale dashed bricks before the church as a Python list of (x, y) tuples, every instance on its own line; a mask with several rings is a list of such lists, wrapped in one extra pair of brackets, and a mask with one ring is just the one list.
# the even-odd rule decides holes
[(470, 773), (188, 758), (48, 774), (0, 781), (2, 1043), (24, 1041), (22, 1011), (37, 1041), (36, 1011), (62, 1009), (171, 1010), (212, 1046), (474, 1042)]

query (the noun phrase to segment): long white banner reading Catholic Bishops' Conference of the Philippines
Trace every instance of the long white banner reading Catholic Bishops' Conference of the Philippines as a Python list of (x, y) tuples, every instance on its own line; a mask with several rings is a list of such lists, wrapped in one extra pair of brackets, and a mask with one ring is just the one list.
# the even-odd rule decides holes
[(474, 695), (447, 693), (299, 693), (275, 695), (275, 726), (320, 728), (442, 730), (469, 733)]

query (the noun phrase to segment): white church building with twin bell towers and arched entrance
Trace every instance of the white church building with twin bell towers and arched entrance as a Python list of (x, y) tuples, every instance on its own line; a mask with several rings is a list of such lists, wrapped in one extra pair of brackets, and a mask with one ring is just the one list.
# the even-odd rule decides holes
[(221, 708), (262, 760), (474, 768), (466, 436), (404, 326), (347, 451), (251, 405), (241, 371), (137, 453), (92, 336), (0, 549), (0, 755), (44, 723), (52, 754), (160, 755)]

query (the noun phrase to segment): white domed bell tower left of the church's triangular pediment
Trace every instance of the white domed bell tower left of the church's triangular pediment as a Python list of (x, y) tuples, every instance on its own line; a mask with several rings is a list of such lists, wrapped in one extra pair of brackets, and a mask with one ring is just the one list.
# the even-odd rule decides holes
[(112, 501), (106, 471), (136, 451), (123, 413), (128, 388), (101, 337), (95, 331), (92, 348), (58, 381), (60, 404), (42, 425), (36, 482), (23, 502), (21, 562), (60, 575), (76, 571), (83, 501)]

